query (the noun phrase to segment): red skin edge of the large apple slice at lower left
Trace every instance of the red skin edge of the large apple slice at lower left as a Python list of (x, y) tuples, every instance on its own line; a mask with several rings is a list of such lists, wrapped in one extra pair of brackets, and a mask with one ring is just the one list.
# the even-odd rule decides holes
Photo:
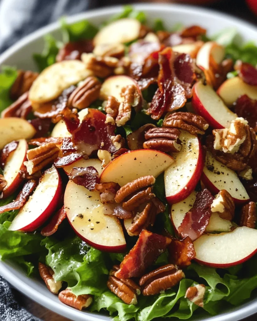
[(62, 197), (62, 193), (63, 193), (62, 192), (62, 180), (61, 180), (60, 174), (58, 172), (58, 187), (57, 187), (56, 193), (55, 193), (53, 199), (51, 200), (51, 202), (49, 203), (48, 207), (45, 209), (45, 211), (43, 213), (40, 214), (40, 216), (35, 221), (33, 221), (32, 223), (30, 223), (27, 226), (24, 226), (21, 229), (21, 231), (32, 232), (32, 231), (38, 229), (51, 216), (51, 214), (56, 210), (58, 203), (60, 201), (60, 198)]

